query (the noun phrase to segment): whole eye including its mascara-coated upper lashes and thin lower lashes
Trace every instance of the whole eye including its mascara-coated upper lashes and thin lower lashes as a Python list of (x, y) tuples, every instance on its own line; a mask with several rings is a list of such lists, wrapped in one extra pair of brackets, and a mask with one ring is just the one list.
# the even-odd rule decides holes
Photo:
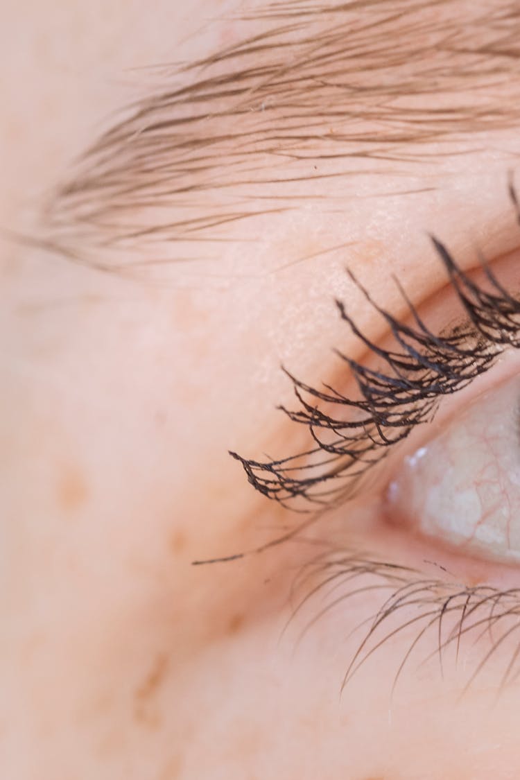
[[(331, 512), (343, 526), (338, 548), (302, 578), (313, 596), (330, 591), (319, 615), (362, 592), (381, 593), (345, 680), (410, 626), (411, 651), (433, 634), (440, 656), (455, 645), (458, 655), (464, 639), (489, 629), (486, 661), (518, 633), (518, 570), (508, 566), (520, 559), (515, 257), (479, 258), (463, 271), (447, 246), (433, 243), (447, 285), (419, 307), (400, 289), (403, 317), (352, 277), (387, 333), (370, 339), (337, 301), (364, 349), (357, 359), (338, 349), (348, 379), (317, 388), (288, 373), (297, 403), (284, 411), (306, 427), (309, 446), (270, 461), (232, 453), (264, 495), (317, 522)], [(309, 601), (305, 594), (301, 603)], [(515, 667), (508, 663), (504, 680)]]

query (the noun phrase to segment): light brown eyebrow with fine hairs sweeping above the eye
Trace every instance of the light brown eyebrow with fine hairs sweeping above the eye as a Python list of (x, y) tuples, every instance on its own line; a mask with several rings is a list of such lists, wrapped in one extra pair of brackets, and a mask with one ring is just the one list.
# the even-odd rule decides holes
[(511, 0), (285, 0), (236, 18), (255, 34), (164, 75), (81, 156), (48, 200), (49, 244), (179, 260), (260, 215), (338, 209), (357, 173), (421, 161), (434, 187), (461, 142), (518, 126)]

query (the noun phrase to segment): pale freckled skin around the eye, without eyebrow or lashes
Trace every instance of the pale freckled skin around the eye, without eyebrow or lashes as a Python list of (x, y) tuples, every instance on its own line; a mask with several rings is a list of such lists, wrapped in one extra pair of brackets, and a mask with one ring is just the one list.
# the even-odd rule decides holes
[[(232, 0), (193, 0), (189, 13), (166, 0), (10, 5), (0, 55), (7, 227), (134, 97), (129, 69), (179, 51), (203, 57), (243, 35), (238, 23), (205, 21), (230, 16)], [(379, 177), (359, 176), (363, 197), (345, 197), (341, 217), (317, 199), (311, 212), (259, 219), (260, 239), (245, 248), (230, 225), (218, 261), (172, 264), (160, 282), (2, 239), (2, 777), (518, 774), (518, 684), (493, 705), (493, 668), (459, 701), (454, 668), (443, 682), (437, 666), (412, 665), (391, 699), (411, 641), (399, 636), (340, 697), (356, 651), (348, 634), (377, 611), (377, 597), (326, 615), (301, 643), (305, 620), (283, 633), (295, 575), (316, 554), (308, 540), (351, 542), (345, 510), (311, 527), (307, 542), (192, 566), (295, 524), (253, 491), (228, 449), (298, 449), (299, 431), (274, 410), (292, 402), (280, 363), (317, 383), (337, 371), (331, 347), (360, 354), (334, 296), (380, 337), (345, 264), (399, 310), (393, 271), (417, 305), (442, 302), (445, 276), (426, 232), (463, 268), (476, 266), (475, 246), (514, 257), (506, 175), (518, 128), (483, 134), (478, 148), (458, 143), (469, 154), (440, 161), (417, 197), (378, 197), (407, 189), (381, 162)], [(430, 181), (430, 163), (413, 176)], [(367, 530), (356, 544), (379, 556), (393, 544), (399, 553), (383, 559), (412, 566), (435, 558), (391, 533)], [(515, 571), (508, 578), (518, 585)]]

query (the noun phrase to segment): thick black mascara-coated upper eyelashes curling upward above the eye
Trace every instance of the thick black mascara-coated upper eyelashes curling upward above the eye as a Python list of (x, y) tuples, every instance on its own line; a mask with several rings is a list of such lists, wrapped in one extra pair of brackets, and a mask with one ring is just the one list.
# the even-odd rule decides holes
[[(520, 222), (512, 185), (510, 196)], [(348, 271), (370, 306), (387, 321), (398, 351), (381, 349), (370, 341), (337, 300), (342, 320), (380, 359), (381, 367), (375, 371), (336, 350), (356, 381), (357, 399), (341, 395), (329, 385), (323, 390), (313, 388), (284, 369), (294, 385), (299, 409), (279, 408), (295, 423), (308, 428), (313, 443), (305, 452), (266, 462), (230, 452), (242, 463), (257, 491), (303, 512), (352, 497), (361, 477), (387, 455), (392, 445), (405, 439), (417, 425), (432, 420), (443, 395), (461, 390), (487, 371), (506, 346), (518, 349), (520, 302), (504, 289), (483, 258), (489, 289), (473, 282), (444, 244), (433, 236), (431, 239), (469, 325), (451, 335), (433, 334), (396, 280), (413, 322), (410, 326), (403, 324), (378, 306)]]

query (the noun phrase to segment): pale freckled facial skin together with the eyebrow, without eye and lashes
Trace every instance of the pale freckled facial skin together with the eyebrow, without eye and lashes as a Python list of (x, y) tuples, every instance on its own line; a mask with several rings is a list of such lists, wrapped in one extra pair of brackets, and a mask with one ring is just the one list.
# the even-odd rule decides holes
[[(260, 555), (192, 566), (302, 522), (228, 450), (300, 451), (274, 409), (294, 406), (280, 363), (347, 387), (332, 349), (363, 349), (334, 298), (384, 339), (346, 265), (401, 316), (398, 275), (437, 320), (449, 295), (428, 233), (462, 268), (478, 247), (515, 280), (513, 4), (332, 5), (330, 18), (265, 0), (5, 10), (2, 776), (518, 773), (518, 684), (496, 697), (505, 649), (461, 697), (461, 667), (486, 651), (469, 642), (441, 675), (419, 665), (437, 648), (425, 636), (391, 696), (412, 629), (340, 696), (352, 629), (389, 593), (340, 602), (299, 641), (328, 603), (311, 598), (284, 630), (323, 579), (306, 568), (317, 555), (486, 584), (490, 569), (377, 525), (372, 494)], [(186, 102), (160, 99), (175, 90)], [(74, 162), (100, 138), (106, 157)], [(520, 584), (515, 569), (492, 578)]]

